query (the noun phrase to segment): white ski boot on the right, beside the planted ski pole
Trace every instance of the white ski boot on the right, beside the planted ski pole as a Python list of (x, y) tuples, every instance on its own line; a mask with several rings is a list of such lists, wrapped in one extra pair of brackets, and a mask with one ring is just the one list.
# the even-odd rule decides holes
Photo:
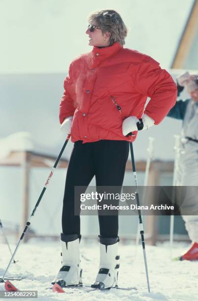
[(92, 288), (108, 289), (118, 287), (118, 269), (120, 267), (118, 260), (119, 237), (103, 238), (99, 236), (100, 262), (99, 273), (96, 282), (91, 285)]

